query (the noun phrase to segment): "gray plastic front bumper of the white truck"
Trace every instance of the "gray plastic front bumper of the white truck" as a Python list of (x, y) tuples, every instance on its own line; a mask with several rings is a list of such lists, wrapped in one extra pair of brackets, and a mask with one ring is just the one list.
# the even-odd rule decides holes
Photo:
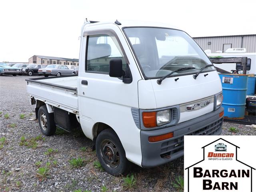
[[(200, 117), (179, 123), (175, 126), (158, 130), (141, 130), (142, 167), (154, 167), (170, 162), (184, 155), (184, 135), (220, 135), (223, 116), (219, 114), (224, 108)], [(149, 142), (148, 137), (173, 132), (173, 138)], [(170, 157), (170, 158), (169, 158)]]

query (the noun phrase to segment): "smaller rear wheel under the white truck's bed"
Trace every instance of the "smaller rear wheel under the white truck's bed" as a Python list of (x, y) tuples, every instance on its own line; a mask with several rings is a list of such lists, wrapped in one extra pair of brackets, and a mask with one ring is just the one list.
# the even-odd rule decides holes
[(54, 114), (48, 113), (46, 105), (43, 105), (38, 110), (38, 123), (40, 130), (46, 136), (51, 136), (56, 131), (56, 124), (54, 122)]

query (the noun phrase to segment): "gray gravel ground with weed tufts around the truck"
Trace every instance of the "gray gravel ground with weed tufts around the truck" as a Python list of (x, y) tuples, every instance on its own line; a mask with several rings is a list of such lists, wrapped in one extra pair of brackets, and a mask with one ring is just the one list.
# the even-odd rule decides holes
[[(2, 147), (0, 140), (0, 192), (102, 191), (102, 186), (107, 191), (176, 191), (172, 182), (184, 174), (183, 157), (151, 169), (134, 165), (131, 172), (136, 185), (127, 189), (123, 186), (124, 177), (114, 177), (94, 166), (97, 157), (91, 150), (92, 141), (82, 132), (57, 130), (54, 136), (43, 136), (35, 120), (34, 106), (28, 102), (26, 78), (29, 77), (0, 77), (0, 139), (6, 138)], [(20, 114), (25, 114), (25, 118), (20, 118)], [(230, 127), (238, 132), (230, 132)], [(256, 135), (256, 129), (224, 122), (222, 134)], [(49, 148), (58, 151), (45, 154)], [(68, 161), (78, 157), (84, 158), (86, 164), (72, 168)], [(39, 167), (49, 168), (48, 178), (43, 181), (37, 176), (38, 161), (42, 162)]]

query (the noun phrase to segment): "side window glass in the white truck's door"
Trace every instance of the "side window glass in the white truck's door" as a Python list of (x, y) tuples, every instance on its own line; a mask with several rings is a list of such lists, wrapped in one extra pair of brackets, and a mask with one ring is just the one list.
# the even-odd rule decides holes
[(108, 74), (109, 62), (113, 58), (122, 59), (123, 70), (126, 71), (124, 54), (114, 36), (88, 36), (86, 71)]

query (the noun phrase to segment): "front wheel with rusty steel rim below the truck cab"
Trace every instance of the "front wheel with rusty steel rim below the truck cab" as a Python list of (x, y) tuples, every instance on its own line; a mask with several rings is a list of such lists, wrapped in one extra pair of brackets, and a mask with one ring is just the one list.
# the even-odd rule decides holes
[(130, 162), (117, 134), (112, 129), (105, 129), (96, 138), (96, 154), (104, 170), (119, 176), (130, 170)]

